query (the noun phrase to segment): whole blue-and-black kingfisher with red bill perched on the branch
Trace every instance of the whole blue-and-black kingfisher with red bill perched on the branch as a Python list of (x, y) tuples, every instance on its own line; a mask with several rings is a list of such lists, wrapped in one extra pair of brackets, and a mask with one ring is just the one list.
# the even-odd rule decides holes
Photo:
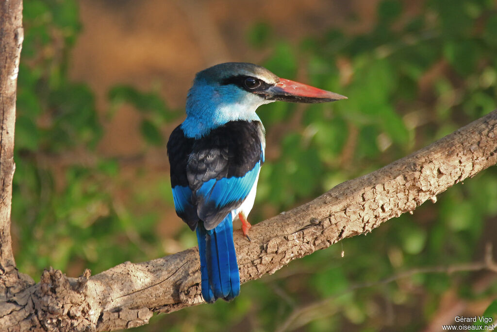
[(196, 230), (201, 292), (206, 302), (240, 293), (233, 221), (248, 240), (265, 130), (255, 113), (275, 101), (325, 103), (346, 97), (279, 78), (251, 64), (229, 62), (196, 74), (186, 119), (167, 142), (176, 214)]

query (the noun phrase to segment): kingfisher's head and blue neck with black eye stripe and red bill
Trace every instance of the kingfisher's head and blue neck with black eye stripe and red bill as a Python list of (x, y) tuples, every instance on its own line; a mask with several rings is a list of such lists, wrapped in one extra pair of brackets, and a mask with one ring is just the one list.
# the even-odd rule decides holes
[(255, 110), (275, 101), (326, 103), (347, 97), (302, 83), (279, 78), (264, 67), (228, 62), (195, 76), (186, 101), (183, 130), (199, 137), (236, 120), (258, 120)]

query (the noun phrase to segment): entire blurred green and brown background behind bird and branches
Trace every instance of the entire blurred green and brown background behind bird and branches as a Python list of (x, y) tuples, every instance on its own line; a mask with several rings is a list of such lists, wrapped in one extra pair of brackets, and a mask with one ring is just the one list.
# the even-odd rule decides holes
[[(196, 245), (174, 213), (165, 145), (208, 66), (253, 62), (349, 97), (259, 109), (267, 151), (252, 223), (496, 109), (493, 0), (25, 0), (24, 27), (12, 235), (19, 270), (36, 281), (49, 266), (77, 277)], [(413, 216), (243, 285), (231, 303), (135, 331), (438, 331), (484, 313), (495, 322), (497, 275), (473, 263), (487, 243), (497, 256), (496, 238), (493, 167)]]

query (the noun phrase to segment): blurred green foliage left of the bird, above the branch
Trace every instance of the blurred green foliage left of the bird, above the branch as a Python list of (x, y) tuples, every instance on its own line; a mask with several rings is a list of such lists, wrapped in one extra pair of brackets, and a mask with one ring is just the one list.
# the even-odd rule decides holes
[[(155, 183), (146, 193), (133, 187), (134, 205), (116, 197), (129, 184), (118, 159), (95, 151), (103, 128), (93, 92), (68, 78), (69, 53), (81, 30), (77, 2), (25, 1), (24, 29), (12, 202), (19, 269), (37, 279), (49, 266), (69, 275), (82, 268), (95, 273), (164, 255), (155, 230), (158, 213), (147, 204), (160, 199), (172, 205), (167, 174), (166, 184)], [(122, 104), (133, 106), (142, 114), (144, 141), (152, 145), (163, 145), (160, 127), (180, 114), (157, 92), (120, 85), (108, 97), (110, 109), (100, 116), (114, 116)]]

